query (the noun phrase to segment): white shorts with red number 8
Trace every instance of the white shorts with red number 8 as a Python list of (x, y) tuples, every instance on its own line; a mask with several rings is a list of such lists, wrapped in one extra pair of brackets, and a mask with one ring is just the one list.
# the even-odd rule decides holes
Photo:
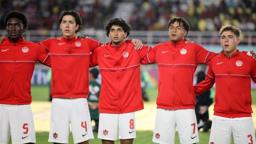
[(136, 138), (135, 112), (124, 114), (100, 113), (98, 138), (104, 140)]

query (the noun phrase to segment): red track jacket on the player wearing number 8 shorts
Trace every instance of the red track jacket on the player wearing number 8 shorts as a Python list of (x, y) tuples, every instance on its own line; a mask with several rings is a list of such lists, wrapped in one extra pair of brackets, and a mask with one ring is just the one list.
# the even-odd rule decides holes
[(129, 113), (144, 109), (140, 86), (140, 60), (151, 49), (135, 50), (125, 41), (118, 47), (108, 44), (91, 54), (91, 66), (99, 65), (100, 113)]

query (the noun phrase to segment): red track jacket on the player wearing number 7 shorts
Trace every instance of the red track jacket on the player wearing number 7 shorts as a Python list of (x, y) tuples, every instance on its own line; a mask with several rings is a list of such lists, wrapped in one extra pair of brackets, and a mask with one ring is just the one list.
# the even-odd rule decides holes
[(157, 108), (194, 109), (193, 76), (198, 64), (208, 65), (218, 54), (194, 43), (169, 41), (157, 44), (142, 64), (157, 63), (159, 70)]

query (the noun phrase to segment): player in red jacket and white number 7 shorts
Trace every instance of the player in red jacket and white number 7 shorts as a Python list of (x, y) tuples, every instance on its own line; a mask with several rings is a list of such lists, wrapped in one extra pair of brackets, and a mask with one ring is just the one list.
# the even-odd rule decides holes
[[(184, 18), (170, 19), (167, 28), (170, 41), (160, 43), (141, 60), (157, 63), (159, 84), (153, 142), (174, 143), (176, 126), (181, 144), (199, 142), (194, 106), (193, 76), (198, 64), (209, 65), (217, 53), (207, 51), (183, 39), (189, 31)], [(255, 56), (255, 55), (254, 55)]]

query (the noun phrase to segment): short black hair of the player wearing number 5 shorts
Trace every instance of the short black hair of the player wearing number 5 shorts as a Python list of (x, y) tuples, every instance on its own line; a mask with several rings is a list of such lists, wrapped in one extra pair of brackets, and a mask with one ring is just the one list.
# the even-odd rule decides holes
[(20, 19), (22, 21), (22, 24), (23, 24), (23, 28), (27, 28), (28, 26), (28, 20), (27, 20), (27, 17), (24, 15), (24, 13), (22, 12), (19, 12), (19, 11), (10, 11), (5, 19), (4, 19), (4, 24), (5, 26), (7, 27), (7, 22), (10, 18), (17, 18), (17, 19)]

